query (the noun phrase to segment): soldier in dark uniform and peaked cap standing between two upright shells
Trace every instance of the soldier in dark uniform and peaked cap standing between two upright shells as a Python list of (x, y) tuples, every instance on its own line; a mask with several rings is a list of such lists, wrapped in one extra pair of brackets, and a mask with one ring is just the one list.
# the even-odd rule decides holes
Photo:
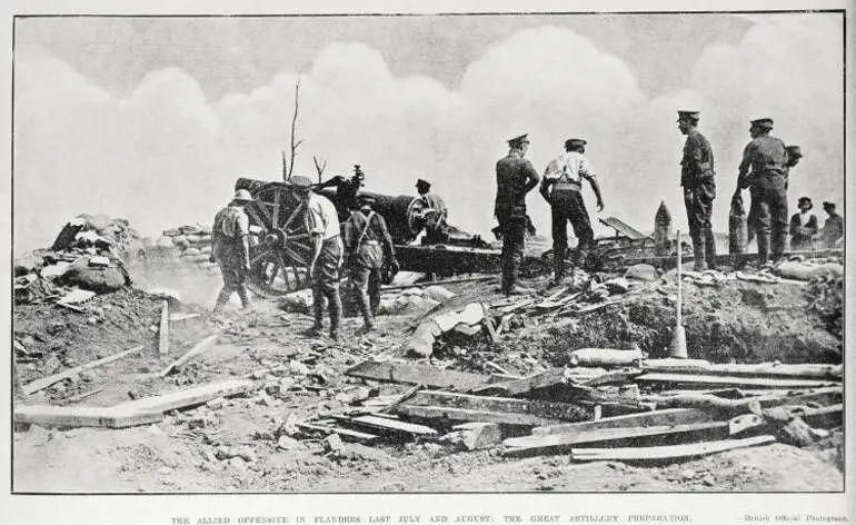
[(698, 116), (698, 111), (678, 111), (678, 129), (687, 136), (680, 160), (680, 186), (684, 187), (689, 237), (693, 239), (694, 269), (701, 271), (716, 268), (716, 242), (710, 228), (716, 172), (710, 142), (696, 129)]

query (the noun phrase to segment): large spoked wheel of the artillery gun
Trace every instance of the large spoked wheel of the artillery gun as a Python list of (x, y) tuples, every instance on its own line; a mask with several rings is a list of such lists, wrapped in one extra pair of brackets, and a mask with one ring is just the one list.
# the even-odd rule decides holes
[(249, 288), (279, 297), (310, 286), (309, 234), (305, 206), (281, 184), (265, 185), (252, 192), (247, 206), (251, 222)]

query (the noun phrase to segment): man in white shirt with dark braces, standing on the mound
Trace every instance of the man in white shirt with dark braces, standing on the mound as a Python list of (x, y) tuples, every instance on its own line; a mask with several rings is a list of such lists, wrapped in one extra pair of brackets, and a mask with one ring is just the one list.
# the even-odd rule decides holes
[[(583, 201), (583, 179), (586, 179), (597, 197), (597, 210), (603, 211), (604, 199), (597, 184), (595, 169), (585, 156), (586, 141), (568, 139), (565, 152), (553, 159), (544, 171), (540, 194), (553, 212), (554, 285), (565, 275), (565, 252), (568, 248), (568, 221), (577, 237), (576, 265), (584, 265), (595, 241), (595, 232)], [(573, 277), (573, 276), (571, 276)]]

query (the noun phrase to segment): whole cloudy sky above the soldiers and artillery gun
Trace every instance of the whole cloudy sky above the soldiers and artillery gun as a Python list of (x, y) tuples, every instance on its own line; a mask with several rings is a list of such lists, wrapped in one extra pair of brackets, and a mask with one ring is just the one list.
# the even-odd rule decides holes
[[(538, 171), (569, 137), (606, 209), (653, 228), (660, 200), (686, 229), (677, 109), (701, 112), (716, 159), (714, 228), (748, 121), (772, 117), (805, 155), (789, 200), (844, 195), (839, 13), (261, 18), (19, 18), (14, 48), (14, 252), (79, 214), (157, 236), (210, 224), (239, 177), (280, 177), (300, 79), (295, 172), (347, 175), (412, 194), (488, 234), (496, 161), (528, 132)], [(585, 198), (597, 232), (594, 196)], [(744, 194), (748, 199), (748, 196)], [(536, 226), (549, 210), (528, 198)], [(823, 215), (820, 211), (818, 214)]]

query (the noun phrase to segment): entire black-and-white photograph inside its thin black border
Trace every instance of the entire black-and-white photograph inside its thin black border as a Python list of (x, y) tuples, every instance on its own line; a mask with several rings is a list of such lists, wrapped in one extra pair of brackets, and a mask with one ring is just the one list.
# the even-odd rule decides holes
[(844, 491), (844, 10), (13, 29), (13, 493)]

